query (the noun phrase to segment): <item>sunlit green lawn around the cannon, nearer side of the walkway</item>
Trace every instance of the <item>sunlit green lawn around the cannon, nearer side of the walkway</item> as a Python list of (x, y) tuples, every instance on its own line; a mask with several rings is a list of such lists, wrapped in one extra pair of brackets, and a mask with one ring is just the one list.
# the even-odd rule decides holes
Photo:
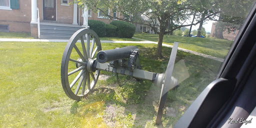
[[(65, 42), (0, 42), (0, 127), (155, 127), (160, 88), (149, 80), (120, 75), (98, 80), (93, 94), (76, 102), (61, 86), (60, 64)], [(163, 58), (153, 56), (156, 44), (102, 43), (102, 49), (127, 45), (140, 48), (144, 70), (162, 73), (171, 48), (163, 47)], [(185, 67), (177, 64), (184, 62)], [(171, 127), (191, 102), (210, 83), (221, 62), (178, 51), (173, 76), (187, 69), (189, 77), (170, 90), (166, 105), (176, 117), (163, 114), (163, 126)], [(101, 71), (101, 74), (110, 72)], [(126, 81), (126, 82), (125, 82)], [(110, 114), (105, 110), (114, 107)], [(165, 112), (165, 111), (164, 111)], [(112, 116), (113, 115), (113, 116)], [(108, 123), (107, 123), (108, 122)]]

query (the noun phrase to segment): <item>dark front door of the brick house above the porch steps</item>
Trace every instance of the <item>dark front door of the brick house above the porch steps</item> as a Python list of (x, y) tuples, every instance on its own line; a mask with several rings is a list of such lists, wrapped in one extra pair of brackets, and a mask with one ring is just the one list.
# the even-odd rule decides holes
[(56, 0), (43, 1), (43, 19), (56, 20)]

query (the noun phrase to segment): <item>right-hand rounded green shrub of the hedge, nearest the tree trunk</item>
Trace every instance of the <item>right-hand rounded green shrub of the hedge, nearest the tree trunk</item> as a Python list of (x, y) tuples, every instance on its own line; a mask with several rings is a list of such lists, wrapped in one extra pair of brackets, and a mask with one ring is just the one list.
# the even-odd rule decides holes
[(129, 22), (113, 20), (110, 24), (117, 26), (116, 35), (118, 37), (131, 38), (135, 33), (135, 25)]

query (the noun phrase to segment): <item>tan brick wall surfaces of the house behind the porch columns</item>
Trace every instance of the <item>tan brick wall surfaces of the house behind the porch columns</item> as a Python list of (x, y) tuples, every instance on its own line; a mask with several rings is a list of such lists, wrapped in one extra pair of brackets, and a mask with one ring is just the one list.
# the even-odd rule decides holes
[[(70, 0), (69, 0), (70, 1)], [(37, 7), (39, 9), (39, 18), (40, 21), (43, 21), (43, 8), (42, 0), (37, 0)], [(79, 13), (80, 10), (80, 13)], [(73, 22), (73, 4), (70, 5), (61, 5), (61, 0), (56, 0), (56, 18), (57, 23), (67, 23), (72, 24)], [(77, 23), (83, 24), (82, 9), (77, 7)], [(111, 11), (111, 10), (110, 10)], [(31, 21), (31, 0), (19, 0), (19, 9), (4, 10), (0, 9), (0, 24), (8, 24), (9, 31), (16, 32), (30, 32), (30, 21)], [(117, 12), (116, 16), (119, 16)], [(123, 18), (123, 15), (120, 14), (120, 18)], [(100, 20), (105, 23), (110, 23), (111, 20), (107, 18), (98, 18), (97, 13), (91, 12), (91, 17), (88, 19)]]

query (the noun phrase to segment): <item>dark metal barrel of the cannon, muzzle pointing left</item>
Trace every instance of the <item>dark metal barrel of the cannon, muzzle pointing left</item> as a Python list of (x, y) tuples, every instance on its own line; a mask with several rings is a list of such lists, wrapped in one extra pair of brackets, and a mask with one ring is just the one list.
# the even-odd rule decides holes
[(113, 61), (117, 59), (128, 58), (133, 50), (139, 50), (136, 46), (125, 46), (122, 48), (115, 48), (110, 50), (100, 50), (97, 53), (97, 60), (100, 63)]

